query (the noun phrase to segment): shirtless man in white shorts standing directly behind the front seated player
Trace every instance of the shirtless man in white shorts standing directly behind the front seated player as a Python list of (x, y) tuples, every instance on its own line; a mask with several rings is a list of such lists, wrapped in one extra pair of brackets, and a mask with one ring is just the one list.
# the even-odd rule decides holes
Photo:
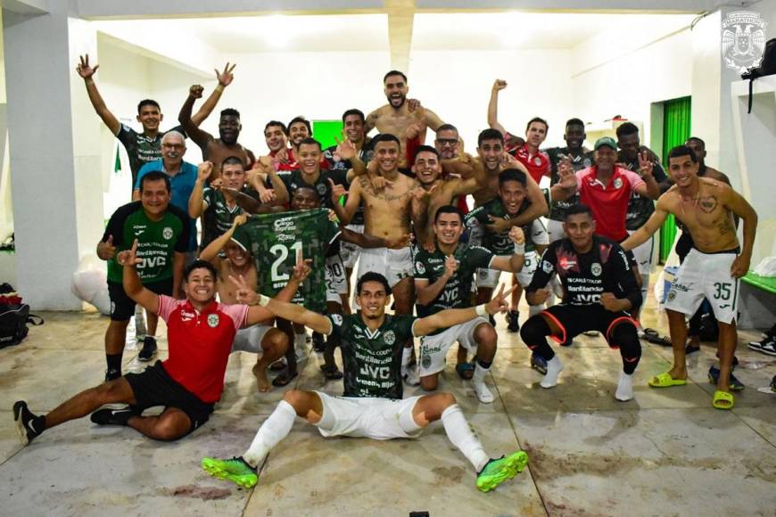
[[(343, 224), (348, 225), (363, 201), (365, 233), (395, 241), (410, 233), (413, 190), (417, 188), (417, 181), (399, 172), (400, 143), (396, 136), (376, 135), (372, 139), (372, 144), (375, 150), (377, 172), (384, 178), (384, 189), (376, 191), (367, 175), (354, 179), (348, 191), (345, 191), (342, 185), (334, 185), (334, 182), (331, 182), (334, 211)], [(348, 200), (344, 206), (341, 206), (337, 201), (345, 193), (348, 195)], [(396, 303), (396, 314), (412, 314), (415, 285), (412, 277), (412, 253), (409, 246), (400, 250), (387, 248), (362, 250), (357, 277), (360, 278), (367, 271), (374, 271), (388, 279)], [(408, 342), (407, 347), (402, 357), (402, 370), (406, 370), (409, 364), (412, 341)], [(408, 382), (412, 384), (417, 385), (420, 382), (417, 379), (417, 373), (402, 372), (402, 374), (408, 375)]]

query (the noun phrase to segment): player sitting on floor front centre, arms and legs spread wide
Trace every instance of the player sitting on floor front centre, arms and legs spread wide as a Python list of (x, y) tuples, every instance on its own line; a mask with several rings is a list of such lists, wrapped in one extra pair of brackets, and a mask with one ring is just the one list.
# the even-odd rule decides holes
[(205, 457), (202, 468), (219, 479), (244, 488), (253, 487), (259, 479), (259, 465), (288, 435), (296, 417), (301, 416), (318, 427), (324, 437), (371, 439), (417, 438), (429, 423), (442, 420), (450, 441), (478, 472), (476, 486), (483, 492), (523, 471), (528, 462), (523, 451), (489, 459), (450, 393), (401, 398), (403, 343), (413, 336), (424, 336), (502, 310), (506, 307), (503, 288), (486, 305), (443, 310), (423, 318), (386, 315), (390, 292), (391, 287), (383, 275), (367, 273), (357, 283), (356, 296), (361, 307), (358, 314), (320, 316), (265, 297), (256, 300), (255, 293), (245, 285), (244, 296), (249, 303), (258, 302), (277, 316), (302, 320), (318, 332), (336, 333), (341, 337), (344, 397), (332, 397), (320, 391), (288, 390), (261, 425), (244, 455), (229, 460)]

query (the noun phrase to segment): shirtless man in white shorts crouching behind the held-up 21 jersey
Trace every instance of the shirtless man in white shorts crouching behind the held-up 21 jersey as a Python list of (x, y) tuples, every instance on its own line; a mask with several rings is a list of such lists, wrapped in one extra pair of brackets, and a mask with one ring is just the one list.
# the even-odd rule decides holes
[[(218, 272), (218, 283), (216, 286), (219, 292), (219, 302), (232, 305), (239, 303), (235, 283), (229, 282), (229, 277), (243, 278), (248, 285), (257, 285), (256, 267), (254, 266), (251, 255), (240, 248), (236, 242), (232, 242), (232, 235), (235, 234), (235, 228), (242, 225), (247, 216), (241, 214), (235, 217), (232, 226), (225, 234), (222, 234), (215, 241), (211, 242), (207, 248), (200, 254), (201, 260), (207, 260), (216, 267)], [(219, 251), (224, 250), (225, 259), (219, 258)], [(294, 271), (296, 275), (296, 271)], [(289, 297), (288, 300), (290, 301)], [(250, 352), (259, 354), (256, 365), (253, 365), (253, 375), (256, 377), (256, 385), (260, 392), (272, 390), (272, 384), (267, 378), (267, 367), (280, 357), (283, 357), (285, 350), (288, 349), (288, 337), (285, 332), (272, 327), (272, 320), (253, 324), (249, 327), (241, 328), (235, 335), (235, 341), (232, 344), (232, 351)]]

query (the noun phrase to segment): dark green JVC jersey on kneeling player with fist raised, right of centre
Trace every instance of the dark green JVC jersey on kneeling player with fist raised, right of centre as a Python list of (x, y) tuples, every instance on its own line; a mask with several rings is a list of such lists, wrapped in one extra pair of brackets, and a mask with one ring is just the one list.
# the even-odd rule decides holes
[[(453, 257), (458, 261), (455, 275), (444, 284), (442, 292), (436, 300), (428, 305), (416, 305), (417, 316), (425, 317), (438, 313), (446, 308), (471, 307), (472, 282), (479, 267), (491, 267), (493, 253), (480, 246), (470, 246), (459, 243)], [(439, 248), (433, 253), (420, 250), (415, 256), (415, 278), (425, 278), (428, 283), (434, 283), (444, 275), (445, 256)], [(434, 332), (436, 333), (436, 332)]]

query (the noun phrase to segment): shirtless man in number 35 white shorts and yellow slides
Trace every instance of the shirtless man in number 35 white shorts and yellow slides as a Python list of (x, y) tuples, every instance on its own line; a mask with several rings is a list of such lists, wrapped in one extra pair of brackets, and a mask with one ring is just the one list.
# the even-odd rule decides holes
[[(675, 185), (657, 200), (648, 221), (623, 242), (632, 250), (646, 242), (673, 214), (689, 230), (695, 247), (689, 251), (673, 281), (665, 303), (673, 344), (673, 368), (656, 375), (649, 385), (654, 388), (687, 383), (684, 315), (692, 316), (704, 296), (712, 302), (719, 322), (720, 375), (714, 392), (714, 407), (731, 409), (730, 393), (733, 353), (738, 343), (736, 314), (739, 278), (747, 274), (755, 243), (757, 214), (728, 185), (698, 177), (698, 157), (689, 147), (680, 145), (668, 153), (668, 168)], [(733, 214), (744, 220), (743, 250), (733, 224)]]

